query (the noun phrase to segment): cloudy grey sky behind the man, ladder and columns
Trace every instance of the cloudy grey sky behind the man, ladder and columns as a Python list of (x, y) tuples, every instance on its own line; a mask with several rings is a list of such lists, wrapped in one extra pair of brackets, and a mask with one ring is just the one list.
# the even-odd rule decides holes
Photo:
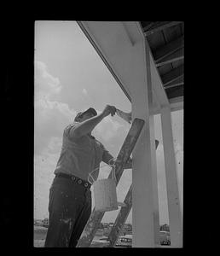
[[(34, 51), (34, 218), (42, 219), (49, 216), (49, 187), (55, 177), (64, 128), (76, 113), (87, 108), (96, 108), (99, 113), (110, 104), (130, 112), (131, 104), (76, 21), (35, 21)], [(182, 202), (183, 110), (171, 113), (171, 120)], [(154, 125), (159, 140), (159, 223), (169, 224), (159, 115), (154, 116)], [(130, 124), (114, 115), (96, 125), (92, 134), (117, 157), (129, 129)], [(111, 169), (103, 162), (101, 166), (99, 178), (105, 178)], [(131, 182), (132, 170), (124, 170), (117, 186), (118, 201), (124, 201)], [(106, 212), (102, 222), (114, 222), (118, 212)], [(132, 223), (132, 209), (126, 222)]]

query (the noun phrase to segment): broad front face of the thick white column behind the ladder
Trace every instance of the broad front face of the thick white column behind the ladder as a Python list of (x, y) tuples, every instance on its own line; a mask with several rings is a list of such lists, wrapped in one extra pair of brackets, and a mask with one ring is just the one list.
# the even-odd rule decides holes
[[(136, 59), (134, 60), (136, 62)], [(136, 65), (135, 65), (136, 66)], [(142, 78), (146, 78), (146, 69)], [(132, 159), (132, 247), (155, 247), (153, 175), (151, 158), (151, 129), (149, 116), (148, 81), (136, 83), (131, 89), (132, 119), (145, 120), (141, 136), (133, 150)], [(140, 81), (140, 77), (138, 79)], [(137, 81), (138, 81), (137, 80)], [(145, 81), (144, 81), (145, 80)], [(155, 143), (154, 143), (155, 148)]]

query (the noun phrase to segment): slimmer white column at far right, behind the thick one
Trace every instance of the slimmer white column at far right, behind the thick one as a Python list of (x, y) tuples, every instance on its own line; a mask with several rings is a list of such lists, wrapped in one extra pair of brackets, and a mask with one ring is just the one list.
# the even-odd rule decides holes
[(170, 107), (161, 108), (161, 125), (165, 155), (165, 179), (171, 232), (171, 247), (182, 247), (182, 214), (179, 201), (177, 162), (172, 136)]

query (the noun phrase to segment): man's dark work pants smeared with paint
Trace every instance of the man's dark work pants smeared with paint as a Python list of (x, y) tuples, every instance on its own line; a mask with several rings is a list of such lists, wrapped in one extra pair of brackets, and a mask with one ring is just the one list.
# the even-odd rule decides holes
[(49, 229), (44, 247), (76, 247), (90, 213), (90, 189), (55, 177), (49, 189)]

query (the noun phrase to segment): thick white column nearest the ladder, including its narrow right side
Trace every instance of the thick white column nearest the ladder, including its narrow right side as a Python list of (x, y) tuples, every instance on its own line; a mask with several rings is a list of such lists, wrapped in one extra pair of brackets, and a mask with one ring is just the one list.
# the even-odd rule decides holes
[(152, 84), (148, 49), (147, 79), (142, 87), (132, 90), (132, 118), (145, 120), (132, 159), (132, 247), (159, 245), (159, 206), (152, 104)]

